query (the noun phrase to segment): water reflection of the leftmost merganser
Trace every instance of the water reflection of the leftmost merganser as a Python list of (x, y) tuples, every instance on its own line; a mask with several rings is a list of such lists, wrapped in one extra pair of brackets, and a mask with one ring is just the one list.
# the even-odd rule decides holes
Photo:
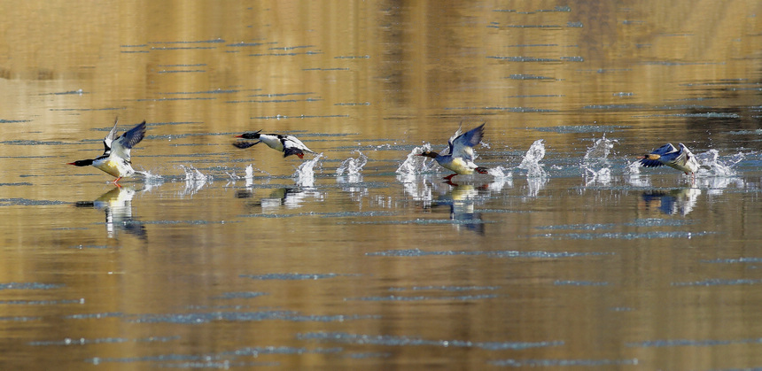
[(109, 238), (115, 238), (120, 231), (146, 239), (143, 223), (132, 215), (132, 197), (136, 190), (131, 186), (121, 186), (105, 192), (95, 201), (77, 201), (77, 207), (92, 207), (105, 213), (105, 230)]

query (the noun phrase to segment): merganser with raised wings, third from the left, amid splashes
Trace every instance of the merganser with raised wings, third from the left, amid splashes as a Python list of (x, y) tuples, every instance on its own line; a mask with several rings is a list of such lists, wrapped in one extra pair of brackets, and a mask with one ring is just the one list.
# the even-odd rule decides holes
[(470, 175), (477, 172), (478, 174), (487, 174), (487, 168), (474, 164), (474, 150), (473, 147), (478, 143), (481, 143), (481, 138), (484, 135), (484, 125), (481, 124), (477, 128), (472, 128), (469, 131), (461, 134), (461, 128), (455, 132), (455, 135), (451, 136), (447, 141), (449, 150), (446, 155), (440, 155), (437, 152), (424, 151), (417, 156), (424, 156), (427, 158), (434, 158), (437, 160), (439, 166), (452, 170), (455, 174), (447, 175), (444, 179), (451, 180), (457, 174)]

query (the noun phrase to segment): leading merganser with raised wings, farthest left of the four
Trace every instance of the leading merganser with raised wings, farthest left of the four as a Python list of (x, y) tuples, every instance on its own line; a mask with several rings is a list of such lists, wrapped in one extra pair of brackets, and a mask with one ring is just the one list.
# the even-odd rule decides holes
[(66, 165), (74, 166), (95, 166), (105, 173), (116, 176), (114, 184), (119, 185), (121, 178), (129, 177), (134, 174), (143, 174), (132, 168), (132, 162), (129, 160), (129, 150), (137, 143), (140, 143), (145, 136), (145, 120), (135, 128), (129, 129), (122, 135), (116, 136), (116, 123), (119, 118), (113, 121), (113, 128), (105, 135), (103, 139), (103, 154), (93, 159), (81, 159)]

